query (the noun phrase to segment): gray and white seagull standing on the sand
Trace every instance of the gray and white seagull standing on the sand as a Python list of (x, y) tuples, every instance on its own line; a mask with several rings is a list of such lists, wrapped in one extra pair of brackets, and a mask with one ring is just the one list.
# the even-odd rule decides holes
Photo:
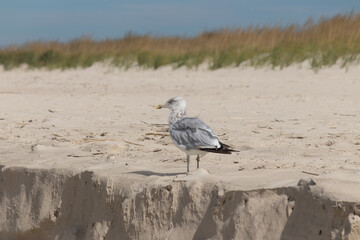
[(168, 108), (171, 113), (168, 118), (171, 140), (186, 153), (187, 172), (190, 171), (190, 156), (197, 155), (197, 168), (200, 156), (208, 152), (231, 154), (238, 152), (222, 143), (214, 131), (197, 117), (186, 116), (186, 101), (182, 97), (173, 97), (157, 109)]

